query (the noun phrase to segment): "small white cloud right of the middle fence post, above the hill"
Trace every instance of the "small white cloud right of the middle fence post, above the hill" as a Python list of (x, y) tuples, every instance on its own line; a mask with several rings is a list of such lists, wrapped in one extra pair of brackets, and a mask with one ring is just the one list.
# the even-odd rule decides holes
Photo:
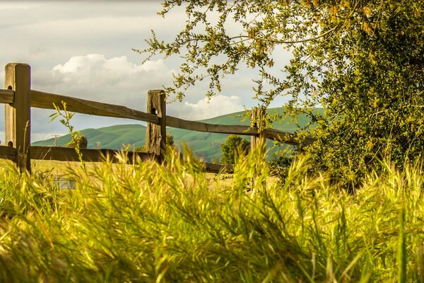
[(242, 99), (238, 96), (213, 96), (211, 100), (203, 98), (197, 103), (184, 102), (170, 105), (170, 115), (175, 115), (182, 119), (203, 120), (232, 112), (242, 111)]

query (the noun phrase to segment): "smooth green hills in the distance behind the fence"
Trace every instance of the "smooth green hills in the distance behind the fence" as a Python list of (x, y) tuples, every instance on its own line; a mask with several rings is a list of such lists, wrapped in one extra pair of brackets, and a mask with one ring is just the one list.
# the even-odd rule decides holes
[[(271, 108), (271, 113), (283, 114), (283, 108)], [(322, 111), (317, 108), (317, 111)], [(243, 112), (236, 112), (228, 115), (222, 115), (207, 120), (201, 120), (201, 122), (207, 122), (211, 124), (220, 125), (249, 125), (249, 120), (240, 122), (242, 120)], [(307, 117), (300, 115), (298, 117), (299, 125), (305, 125), (307, 123)], [(273, 127), (280, 129), (285, 132), (295, 132), (295, 123), (288, 123), (283, 120), (280, 122), (274, 122)], [(182, 144), (187, 144), (196, 156), (204, 158), (206, 161), (219, 161), (221, 156), (220, 144), (225, 143), (225, 139), (228, 134), (214, 134), (206, 132), (194, 132), (186, 129), (167, 128), (167, 132), (174, 136), (175, 144), (179, 147)], [(143, 125), (114, 125), (110, 127), (102, 127), (100, 129), (83, 129), (81, 134), (85, 135), (88, 139), (88, 148), (94, 148), (95, 143), (100, 141), (102, 149), (121, 149), (122, 144), (130, 144), (131, 149), (139, 146), (143, 146), (146, 142), (146, 127)], [(248, 136), (244, 136), (246, 139), (250, 139)], [(58, 146), (66, 146), (71, 141), (71, 136), (66, 134), (63, 137), (57, 139)], [(33, 145), (36, 146), (53, 146), (54, 139), (47, 139), (44, 141), (35, 141)], [(273, 146), (272, 141), (267, 141), (267, 148)], [(276, 149), (271, 151), (271, 154)]]

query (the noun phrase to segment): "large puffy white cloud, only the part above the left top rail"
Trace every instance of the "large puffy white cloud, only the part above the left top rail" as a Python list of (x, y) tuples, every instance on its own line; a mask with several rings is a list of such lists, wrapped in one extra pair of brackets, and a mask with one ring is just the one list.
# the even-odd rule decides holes
[(71, 57), (50, 71), (35, 72), (33, 85), (41, 91), (141, 109), (147, 91), (169, 83), (171, 72), (162, 59), (134, 64), (126, 56), (87, 54)]

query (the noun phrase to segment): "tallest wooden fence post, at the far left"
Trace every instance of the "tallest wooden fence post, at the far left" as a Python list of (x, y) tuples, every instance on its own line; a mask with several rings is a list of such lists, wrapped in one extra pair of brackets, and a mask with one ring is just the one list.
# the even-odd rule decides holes
[(5, 104), (6, 143), (17, 149), (20, 171), (30, 172), (31, 68), (28, 64), (9, 63), (5, 71), (5, 88), (15, 91), (13, 103)]

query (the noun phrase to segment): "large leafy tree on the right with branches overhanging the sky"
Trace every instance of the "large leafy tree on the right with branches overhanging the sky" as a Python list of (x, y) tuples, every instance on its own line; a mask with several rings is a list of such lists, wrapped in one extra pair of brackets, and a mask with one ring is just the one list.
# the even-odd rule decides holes
[[(267, 106), (288, 96), (286, 116), (309, 115), (299, 131), (317, 138), (307, 149), (316, 168), (346, 183), (380, 158), (403, 166), (424, 150), (422, 1), (167, 0), (160, 14), (183, 4), (187, 24), (175, 40), (153, 33), (141, 50), (182, 58), (167, 88), (177, 98), (204, 79), (212, 96), (223, 76), (256, 69), (255, 97)], [(282, 50), (290, 63), (274, 66)]]

